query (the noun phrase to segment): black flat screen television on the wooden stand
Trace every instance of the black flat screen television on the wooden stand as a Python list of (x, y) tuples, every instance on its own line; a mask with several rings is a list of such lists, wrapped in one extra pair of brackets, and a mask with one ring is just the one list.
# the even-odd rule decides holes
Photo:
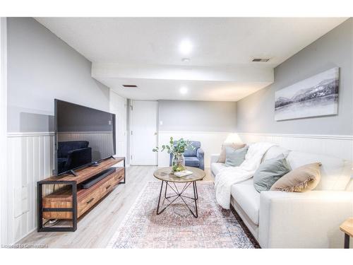
[(56, 175), (75, 174), (80, 167), (111, 157), (115, 150), (115, 114), (55, 102)]

